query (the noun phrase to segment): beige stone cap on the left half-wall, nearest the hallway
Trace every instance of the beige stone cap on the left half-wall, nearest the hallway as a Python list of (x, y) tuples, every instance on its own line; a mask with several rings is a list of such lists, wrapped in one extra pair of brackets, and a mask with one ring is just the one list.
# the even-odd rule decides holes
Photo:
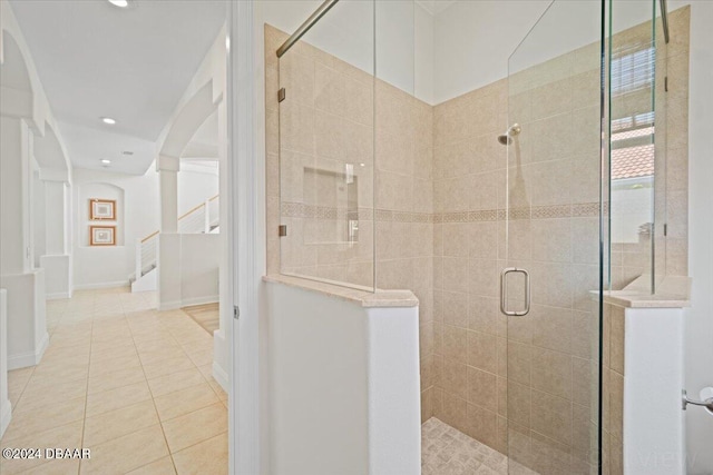
[(419, 299), (411, 290), (381, 290), (371, 291), (367, 287), (344, 287), (326, 280), (312, 280), (284, 274), (271, 274), (263, 280), (272, 284), (283, 284), (299, 287), (310, 291), (316, 291), (330, 297), (353, 301), (362, 307), (418, 307)]

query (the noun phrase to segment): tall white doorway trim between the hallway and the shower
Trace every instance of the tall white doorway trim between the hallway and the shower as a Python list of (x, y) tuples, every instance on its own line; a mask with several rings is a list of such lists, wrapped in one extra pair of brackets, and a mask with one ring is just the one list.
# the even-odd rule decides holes
[[(238, 309), (228, 331), (229, 473), (264, 472), (261, 424), (260, 293), (265, 267), (264, 154), (258, 139), (260, 109), (256, 98), (257, 55), (254, 0), (228, 0), (227, 21), (227, 126), (229, 174), (228, 219), (232, 231), (228, 259), (232, 301)], [(264, 146), (263, 146), (264, 147)], [(262, 168), (261, 168), (262, 167)]]

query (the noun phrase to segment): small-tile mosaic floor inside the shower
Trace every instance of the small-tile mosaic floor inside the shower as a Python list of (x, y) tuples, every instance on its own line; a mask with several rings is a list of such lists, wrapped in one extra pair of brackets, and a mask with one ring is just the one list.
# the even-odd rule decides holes
[[(509, 466), (508, 466), (509, 464)], [(509, 472), (508, 472), (509, 467)], [(422, 475), (537, 475), (499, 452), (431, 417), (421, 425)]]

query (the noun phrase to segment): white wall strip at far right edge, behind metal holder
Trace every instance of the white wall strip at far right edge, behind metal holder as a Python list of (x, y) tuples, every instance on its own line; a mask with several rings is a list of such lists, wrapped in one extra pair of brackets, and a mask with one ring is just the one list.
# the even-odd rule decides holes
[[(670, 1), (673, 10), (688, 3)], [(685, 385), (692, 397), (713, 386), (713, 2), (691, 3), (688, 91), (688, 273), (692, 308), (685, 315)], [(687, 473), (713, 473), (713, 417), (700, 407), (686, 412)]]

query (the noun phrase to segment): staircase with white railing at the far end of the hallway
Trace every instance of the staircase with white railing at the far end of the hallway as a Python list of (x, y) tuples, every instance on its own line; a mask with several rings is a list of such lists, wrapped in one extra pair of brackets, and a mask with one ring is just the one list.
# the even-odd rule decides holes
[[(178, 218), (178, 234), (217, 234), (221, 231), (219, 195), (195, 206)], [(131, 291), (148, 291), (157, 288), (158, 261), (156, 230), (136, 240), (136, 268), (129, 276)]]

